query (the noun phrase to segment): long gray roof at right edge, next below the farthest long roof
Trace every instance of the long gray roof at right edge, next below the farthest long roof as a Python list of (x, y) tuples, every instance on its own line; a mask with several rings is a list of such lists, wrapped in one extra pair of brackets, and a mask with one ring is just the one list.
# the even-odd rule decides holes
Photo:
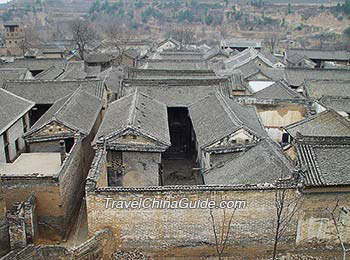
[(291, 86), (302, 86), (305, 80), (350, 80), (348, 69), (286, 68), (285, 80)]

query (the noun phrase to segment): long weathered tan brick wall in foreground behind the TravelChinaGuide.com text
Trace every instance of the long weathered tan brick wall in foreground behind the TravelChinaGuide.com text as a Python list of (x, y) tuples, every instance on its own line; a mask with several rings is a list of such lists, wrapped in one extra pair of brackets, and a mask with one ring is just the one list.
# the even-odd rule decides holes
[[(132, 201), (156, 198), (190, 201), (246, 201), (246, 208), (237, 209), (233, 218), (230, 243), (270, 243), (274, 230), (274, 191), (144, 191), (88, 192), (87, 212), (89, 233), (109, 228), (122, 247), (159, 248), (163, 246), (195, 246), (214, 243), (209, 209), (106, 209), (106, 200)], [(216, 224), (222, 224), (223, 210), (214, 209)], [(227, 210), (228, 215), (232, 210)], [(227, 225), (226, 215), (226, 225)], [(289, 233), (295, 240), (296, 225)]]

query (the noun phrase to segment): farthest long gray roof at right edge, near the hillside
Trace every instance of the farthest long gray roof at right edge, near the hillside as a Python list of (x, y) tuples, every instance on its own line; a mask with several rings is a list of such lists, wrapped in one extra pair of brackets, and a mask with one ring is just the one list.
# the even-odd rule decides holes
[(308, 57), (312, 60), (339, 60), (347, 61), (350, 59), (350, 53), (343, 50), (317, 50), (317, 49), (289, 49), (287, 57), (298, 54), (301, 57)]

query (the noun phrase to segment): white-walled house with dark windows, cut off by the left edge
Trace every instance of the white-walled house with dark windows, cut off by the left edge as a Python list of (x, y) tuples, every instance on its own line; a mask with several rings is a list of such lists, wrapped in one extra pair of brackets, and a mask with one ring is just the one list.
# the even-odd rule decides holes
[(25, 149), (22, 135), (29, 128), (34, 102), (0, 88), (0, 163), (15, 160)]

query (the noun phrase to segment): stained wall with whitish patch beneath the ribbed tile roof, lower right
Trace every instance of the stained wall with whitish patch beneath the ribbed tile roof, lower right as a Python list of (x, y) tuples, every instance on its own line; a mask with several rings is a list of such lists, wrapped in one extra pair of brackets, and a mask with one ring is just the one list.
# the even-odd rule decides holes
[[(310, 240), (323, 240), (330, 243), (339, 243), (336, 238), (336, 231), (330, 214), (326, 208), (333, 210), (336, 201), (339, 199), (339, 206), (345, 207), (345, 211), (340, 208), (336, 211), (336, 216), (340, 214), (340, 220), (344, 226), (340, 225), (340, 232), (344, 242), (350, 243), (350, 193), (348, 192), (317, 192), (305, 194), (304, 206), (298, 221), (297, 244), (303, 244)], [(340, 222), (339, 222), (340, 224)]]

